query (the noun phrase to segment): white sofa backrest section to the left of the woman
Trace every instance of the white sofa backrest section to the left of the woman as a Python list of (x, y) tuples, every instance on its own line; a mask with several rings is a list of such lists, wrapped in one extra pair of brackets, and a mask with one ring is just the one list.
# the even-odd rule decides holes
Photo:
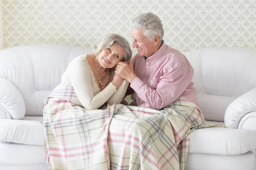
[(44, 98), (61, 82), (61, 75), (76, 56), (93, 53), (78, 46), (37, 44), (0, 51), (0, 78), (20, 91), (26, 114), (43, 115)]

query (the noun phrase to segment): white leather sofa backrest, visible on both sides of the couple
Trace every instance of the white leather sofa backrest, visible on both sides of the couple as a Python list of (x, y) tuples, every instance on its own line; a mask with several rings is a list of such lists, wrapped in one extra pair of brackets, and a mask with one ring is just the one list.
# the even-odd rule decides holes
[[(76, 56), (93, 53), (79, 46), (37, 44), (0, 51), (0, 78), (17, 87), (26, 114), (42, 116), (44, 98), (61, 82)], [(184, 52), (194, 68), (198, 105), (205, 119), (224, 121), (228, 105), (256, 87), (256, 50), (199, 49)]]

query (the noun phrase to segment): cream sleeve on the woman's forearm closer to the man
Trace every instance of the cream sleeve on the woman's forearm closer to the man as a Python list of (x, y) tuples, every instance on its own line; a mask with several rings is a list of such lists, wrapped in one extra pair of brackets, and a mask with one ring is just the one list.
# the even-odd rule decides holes
[(125, 96), (128, 85), (128, 81), (123, 81), (121, 86), (118, 87), (117, 91), (108, 99), (107, 104), (121, 103)]

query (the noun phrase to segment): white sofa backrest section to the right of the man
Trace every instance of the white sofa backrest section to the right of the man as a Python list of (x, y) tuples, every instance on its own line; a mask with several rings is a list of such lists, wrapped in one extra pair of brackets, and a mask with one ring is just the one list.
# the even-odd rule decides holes
[(255, 49), (199, 49), (183, 54), (194, 68), (198, 105), (206, 120), (224, 122), (228, 105), (256, 87)]

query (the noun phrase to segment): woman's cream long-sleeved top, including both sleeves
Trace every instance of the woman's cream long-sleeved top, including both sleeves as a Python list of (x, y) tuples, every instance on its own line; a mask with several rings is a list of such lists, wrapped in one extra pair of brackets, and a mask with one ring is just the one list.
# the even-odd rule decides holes
[[(113, 76), (112, 76), (113, 78)], [(124, 81), (116, 90), (110, 82), (105, 89), (97, 86), (93, 71), (87, 61), (86, 55), (79, 55), (67, 66), (61, 77), (61, 84), (72, 86), (79, 100), (75, 104), (82, 105), (85, 109), (98, 109), (105, 102), (107, 104), (120, 103), (129, 85)]]

